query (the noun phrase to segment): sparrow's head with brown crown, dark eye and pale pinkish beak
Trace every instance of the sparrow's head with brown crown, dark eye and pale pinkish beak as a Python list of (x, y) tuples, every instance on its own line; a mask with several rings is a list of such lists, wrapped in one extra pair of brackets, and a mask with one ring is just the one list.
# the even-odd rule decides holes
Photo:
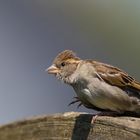
[(58, 79), (65, 83), (71, 83), (71, 75), (77, 69), (80, 58), (71, 50), (65, 50), (59, 53), (53, 61), (53, 64), (47, 69), (49, 74), (54, 74)]

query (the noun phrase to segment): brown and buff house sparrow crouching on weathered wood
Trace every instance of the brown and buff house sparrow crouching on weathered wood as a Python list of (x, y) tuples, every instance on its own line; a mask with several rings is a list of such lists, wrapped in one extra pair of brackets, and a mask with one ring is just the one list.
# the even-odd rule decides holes
[(114, 66), (82, 60), (71, 50), (58, 54), (47, 69), (75, 90), (87, 108), (117, 114), (140, 114), (140, 83)]

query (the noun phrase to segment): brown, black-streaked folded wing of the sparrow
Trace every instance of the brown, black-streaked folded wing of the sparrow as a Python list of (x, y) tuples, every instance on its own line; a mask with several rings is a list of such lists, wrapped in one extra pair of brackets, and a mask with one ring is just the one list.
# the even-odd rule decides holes
[[(96, 61), (92, 61), (92, 64), (96, 69), (97, 76), (108, 84), (120, 87), (124, 90), (130, 90), (131, 92), (133, 92), (133, 90), (140, 92), (140, 83), (121, 69)], [(140, 96), (140, 94), (138, 96)]]

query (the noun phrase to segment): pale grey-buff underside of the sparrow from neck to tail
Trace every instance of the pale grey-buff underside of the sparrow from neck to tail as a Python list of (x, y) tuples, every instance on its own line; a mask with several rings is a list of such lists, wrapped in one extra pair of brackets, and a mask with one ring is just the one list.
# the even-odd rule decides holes
[[(89, 71), (87, 71), (87, 67)], [(140, 112), (140, 100), (135, 96), (130, 96), (125, 90), (110, 85), (100, 79), (93, 66), (89, 64), (80, 65), (80, 73), (75, 71), (71, 76), (74, 90), (77, 96), (90, 108), (100, 108), (116, 112)], [(89, 76), (90, 75), (90, 76)], [(75, 78), (73, 78), (75, 77)], [(131, 91), (130, 91), (131, 92)]]

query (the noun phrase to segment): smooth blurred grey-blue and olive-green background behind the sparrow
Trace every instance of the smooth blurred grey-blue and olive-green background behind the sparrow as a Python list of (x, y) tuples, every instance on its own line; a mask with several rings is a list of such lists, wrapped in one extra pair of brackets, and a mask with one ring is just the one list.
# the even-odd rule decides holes
[(66, 111), (73, 89), (45, 73), (58, 52), (118, 66), (140, 80), (140, 1), (0, 1), (0, 124)]

